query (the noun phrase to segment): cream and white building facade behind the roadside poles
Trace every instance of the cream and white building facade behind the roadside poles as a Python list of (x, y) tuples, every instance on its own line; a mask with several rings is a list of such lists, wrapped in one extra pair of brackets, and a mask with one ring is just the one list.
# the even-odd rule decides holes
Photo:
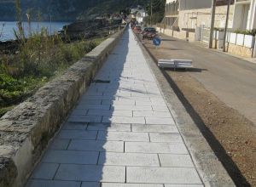
[[(227, 1), (217, 0), (215, 27), (224, 27)], [(229, 28), (251, 30), (256, 28), (256, 0), (231, 0)], [(164, 23), (169, 28), (195, 29), (210, 27), (212, 0), (166, 0)]]

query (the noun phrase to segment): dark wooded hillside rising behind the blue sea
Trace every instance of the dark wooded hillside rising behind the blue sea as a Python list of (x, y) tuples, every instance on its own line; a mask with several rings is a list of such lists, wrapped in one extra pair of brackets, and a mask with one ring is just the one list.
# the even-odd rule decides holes
[[(22, 0), (21, 8), (24, 19), (30, 9), (33, 20), (89, 20), (147, 3), (148, 0)], [(0, 20), (15, 20), (15, 0), (0, 0)]]

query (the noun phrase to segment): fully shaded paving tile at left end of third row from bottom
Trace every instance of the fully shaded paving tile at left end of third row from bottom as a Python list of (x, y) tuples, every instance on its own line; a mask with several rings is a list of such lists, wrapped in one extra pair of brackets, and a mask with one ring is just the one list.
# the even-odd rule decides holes
[(48, 150), (43, 162), (96, 164), (98, 156), (99, 152), (96, 151)]

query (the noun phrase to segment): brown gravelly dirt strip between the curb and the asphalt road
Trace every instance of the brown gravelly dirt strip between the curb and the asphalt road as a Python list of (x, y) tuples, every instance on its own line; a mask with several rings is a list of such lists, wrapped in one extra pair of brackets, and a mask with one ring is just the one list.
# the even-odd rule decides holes
[[(166, 53), (171, 50), (168, 45), (156, 50), (151, 42), (144, 42), (154, 59), (170, 59), (176, 53), (175, 50)], [(253, 122), (218, 99), (189, 71), (163, 73), (170, 78), (168, 81), (178, 98), (236, 185), (256, 186), (256, 127)]]

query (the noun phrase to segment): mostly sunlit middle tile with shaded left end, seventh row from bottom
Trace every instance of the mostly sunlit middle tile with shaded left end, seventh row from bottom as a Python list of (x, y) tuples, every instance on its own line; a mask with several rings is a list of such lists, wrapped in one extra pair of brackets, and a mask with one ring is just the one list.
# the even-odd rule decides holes
[(103, 116), (102, 122), (113, 123), (140, 123), (145, 124), (144, 117), (129, 117), (129, 116)]

